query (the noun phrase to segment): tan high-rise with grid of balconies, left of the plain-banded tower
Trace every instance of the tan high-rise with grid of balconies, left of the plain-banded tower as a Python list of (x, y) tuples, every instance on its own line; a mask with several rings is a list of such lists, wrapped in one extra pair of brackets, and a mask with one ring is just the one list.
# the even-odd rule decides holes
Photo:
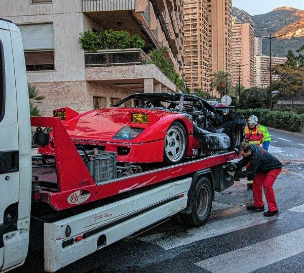
[(209, 91), (209, 25), (208, 1), (185, 0), (185, 82), (194, 92), (201, 89)]

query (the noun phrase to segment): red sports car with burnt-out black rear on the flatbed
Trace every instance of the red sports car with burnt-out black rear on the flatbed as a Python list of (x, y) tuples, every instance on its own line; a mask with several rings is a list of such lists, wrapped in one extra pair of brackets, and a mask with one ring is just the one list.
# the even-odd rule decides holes
[[(175, 164), (238, 145), (244, 139), (244, 116), (229, 118), (203, 99), (177, 93), (139, 93), (110, 108), (84, 113), (56, 109), (76, 146), (117, 152), (118, 162)], [(49, 145), (39, 147), (54, 154)]]

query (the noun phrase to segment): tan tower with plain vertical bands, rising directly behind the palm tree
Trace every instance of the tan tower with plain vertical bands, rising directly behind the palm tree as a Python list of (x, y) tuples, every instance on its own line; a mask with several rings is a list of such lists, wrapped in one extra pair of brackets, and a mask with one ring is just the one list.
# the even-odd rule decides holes
[[(232, 0), (208, 0), (209, 73), (232, 73)], [(216, 90), (213, 96), (219, 96)]]

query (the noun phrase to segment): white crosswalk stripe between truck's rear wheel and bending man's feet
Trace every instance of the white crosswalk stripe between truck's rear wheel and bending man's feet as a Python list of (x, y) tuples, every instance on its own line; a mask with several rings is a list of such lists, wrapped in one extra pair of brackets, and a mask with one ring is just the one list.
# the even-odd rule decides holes
[[(250, 226), (274, 221), (280, 217), (264, 217), (261, 212), (248, 212), (248, 214), (241, 215), (234, 218), (218, 220), (206, 223), (200, 228), (189, 229), (184, 234), (170, 234), (166, 233), (154, 234), (139, 238), (139, 240), (146, 243), (157, 244), (160, 247), (169, 250), (175, 247), (188, 245), (203, 239), (215, 237), (218, 235), (242, 230)], [(304, 245), (304, 244), (303, 244)]]

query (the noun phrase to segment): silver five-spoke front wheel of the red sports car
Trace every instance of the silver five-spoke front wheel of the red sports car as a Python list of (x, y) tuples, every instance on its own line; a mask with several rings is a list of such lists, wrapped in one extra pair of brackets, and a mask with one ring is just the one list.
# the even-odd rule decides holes
[(187, 148), (187, 137), (184, 127), (173, 122), (165, 136), (164, 160), (167, 164), (176, 164), (184, 159)]

